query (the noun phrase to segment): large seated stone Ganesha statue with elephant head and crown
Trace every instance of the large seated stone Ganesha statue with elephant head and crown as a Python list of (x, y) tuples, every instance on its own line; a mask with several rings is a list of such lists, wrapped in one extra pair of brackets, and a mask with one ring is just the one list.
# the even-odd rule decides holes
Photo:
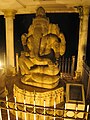
[(65, 53), (66, 42), (57, 24), (49, 23), (45, 10), (39, 7), (36, 17), (21, 36), (24, 51), (19, 66), (24, 84), (52, 89), (59, 83), (58, 59)]

